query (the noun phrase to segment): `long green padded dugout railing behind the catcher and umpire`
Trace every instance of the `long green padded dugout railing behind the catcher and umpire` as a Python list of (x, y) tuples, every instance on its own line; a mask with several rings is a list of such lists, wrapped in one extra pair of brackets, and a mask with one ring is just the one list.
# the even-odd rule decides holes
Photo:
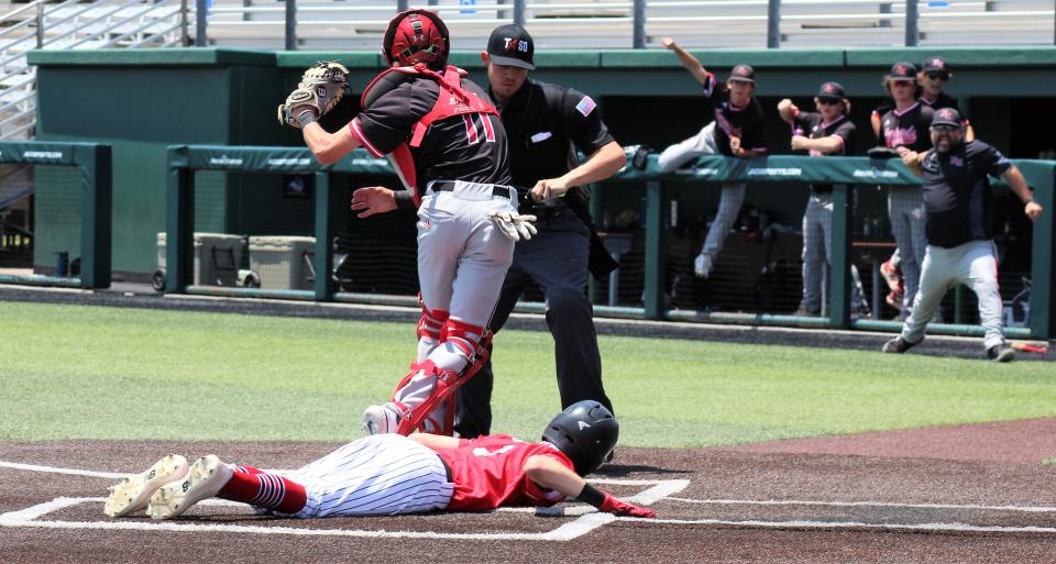
[[(1053, 277), (1052, 256), (1054, 240), (1054, 184), (1056, 163), (1048, 161), (1014, 161), (1034, 189), (1034, 198), (1045, 208), (1042, 220), (1033, 225), (1031, 254), (1032, 291), (1030, 323), (1024, 328), (1005, 328), (1009, 336), (1049, 339), (1053, 335)], [(166, 250), (168, 278), (166, 291), (243, 297), (292, 298), (317, 301), (346, 301), (375, 305), (414, 306), (411, 296), (380, 294), (353, 294), (336, 291), (331, 273), (332, 242), (334, 237), (329, 206), (331, 204), (331, 176), (392, 174), (387, 161), (373, 158), (364, 151), (331, 166), (319, 166), (306, 148), (180, 145), (168, 151), (169, 179), (167, 192), (166, 231), (169, 244)], [(221, 170), (233, 173), (310, 174), (315, 176), (315, 228), (316, 250), (315, 288), (305, 290), (262, 290), (248, 288), (207, 287), (191, 284), (191, 233), (195, 209), (195, 172)], [(788, 184), (832, 183), (834, 191), (833, 257), (828, 283), (831, 307), (827, 316), (804, 318), (769, 313), (705, 312), (675, 310), (664, 306), (664, 210), (669, 204), (670, 190), (676, 185), (717, 186), (721, 183)], [(1001, 184), (996, 179), (996, 184)], [(861, 330), (898, 330), (894, 321), (851, 319), (849, 308), (851, 259), (851, 204), (849, 186), (913, 186), (920, 179), (906, 170), (899, 159), (870, 159), (866, 157), (831, 157), (816, 159), (803, 156), (770, 156), (756, 159), (736, 159), (721, 156), (702, 157), (693, 167), (672, 174), (657, 170), (656, 156), (650, 156), (644, 170), (630, 166), (622, 170), (606, 186), (645, 187), (645, 280), (644, 307), (595, 305), (596, 314), (647, 320), (698, 321), (759, 325), (805, 325)], [(842, 186), (843, 185), (843, 186)], [(597, 210), (595, 210), (597, 212)], [(521, 311), (543, 311), (544, 305), (521, 302)], [(978, 325), (956, 323), (935, 324), (937, 333), (981, 334)]]

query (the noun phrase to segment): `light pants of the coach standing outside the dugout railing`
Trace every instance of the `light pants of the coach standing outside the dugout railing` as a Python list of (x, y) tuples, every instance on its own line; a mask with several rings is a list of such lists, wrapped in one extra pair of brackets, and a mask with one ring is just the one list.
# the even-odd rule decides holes
[[(1001, 331), (1003, 303), (998, 289), (998, 254), (992, 241), (971, 241), (952, 248), (927, 245), (921, 290), (913, 301), (913, 310), (902, 327), (902, 339), (919, 343), (932, 320), (935, 308), (946, 290), (964, 284), (976, 292), (979, 301), (979, 323), (986, 330), (986, 349), (1004, 343)], [(904, 263), (903, 258), (903, 263)]]

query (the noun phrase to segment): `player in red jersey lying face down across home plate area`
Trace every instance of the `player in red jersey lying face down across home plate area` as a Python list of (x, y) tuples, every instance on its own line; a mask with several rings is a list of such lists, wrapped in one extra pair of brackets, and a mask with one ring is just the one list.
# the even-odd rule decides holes
[(366, 436), (288, 475), (226, 464), (215, 455), (188, 466), (169, 454), (143, 474), (110, 488), (109, 517), (146, 509), (170, 519), (210, 497), (298, 518), (485, 511), (549, 507), (568, 498), (602, 511), (654, 517), (594, 488), (594, 472), (616, 446), (619, 424), (596, 401), (569, 406), (550, 421), (542, 442), (509, 435), (473, 440), (419, 433)]

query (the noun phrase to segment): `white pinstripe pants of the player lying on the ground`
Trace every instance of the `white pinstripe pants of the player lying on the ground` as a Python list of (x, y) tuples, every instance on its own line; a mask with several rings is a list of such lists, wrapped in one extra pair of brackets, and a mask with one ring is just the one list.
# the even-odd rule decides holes
[(432, 450), (399, 434), (353, 441), (294, 472), (308, 501), (294, 517), (400, 515), (448, 507), (454, 485)]

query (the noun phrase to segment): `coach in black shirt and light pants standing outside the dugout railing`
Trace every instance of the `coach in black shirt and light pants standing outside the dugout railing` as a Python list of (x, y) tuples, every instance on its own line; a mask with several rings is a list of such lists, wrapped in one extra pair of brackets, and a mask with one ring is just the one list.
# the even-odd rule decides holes
[(921, 286), (902, 335), (883, 345), (886, 353), (903, 353), (924, 339), (924, 328), (946, 290), (969, 286), (979, 298), (979, 318), (986, 330), (983, 346), (996, 362), (1009, 362), (1015, 351), (1004, 344), (1002, 301), (998, 292), (998, 257), (993, 236), (993, 196), (988, 175), (1000, 176), (1025, 203), (1031, 221), (1042, 207), (1020, 170), (998, 150), (981, 141), (965, 142), (965, 125), (953, 108), (935, 112), (931, 137), (934, 148), (903, 155), (906, 166), (923, 177), (927, 247)]

